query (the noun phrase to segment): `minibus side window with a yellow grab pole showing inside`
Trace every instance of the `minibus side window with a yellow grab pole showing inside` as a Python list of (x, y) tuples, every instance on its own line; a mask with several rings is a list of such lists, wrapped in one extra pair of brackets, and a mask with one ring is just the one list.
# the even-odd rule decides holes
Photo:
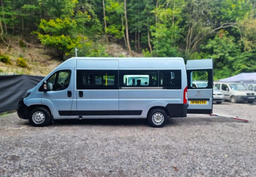
[(118, 89), (117, 70), (77, 70), (76, 89)]

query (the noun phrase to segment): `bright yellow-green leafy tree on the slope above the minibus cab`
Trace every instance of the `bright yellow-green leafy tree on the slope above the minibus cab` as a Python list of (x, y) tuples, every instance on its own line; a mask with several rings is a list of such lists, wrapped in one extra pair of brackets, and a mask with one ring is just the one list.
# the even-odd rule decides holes
[[(81, 45), (82, 38), (72, 33), (77, 27), (76, 21), (71, 19), (74, 16), (73, 8), (76, 3), (78, 3), (77, 0), (66, 0), (61, 18), (49, 21), (41, 19), (37, 32), (41, 43), (55, 48), (61, 60), (64, 60), (64, 55), (71, 54), (75, 47)], [(64, 15), (64, 13), (67, 14)]]

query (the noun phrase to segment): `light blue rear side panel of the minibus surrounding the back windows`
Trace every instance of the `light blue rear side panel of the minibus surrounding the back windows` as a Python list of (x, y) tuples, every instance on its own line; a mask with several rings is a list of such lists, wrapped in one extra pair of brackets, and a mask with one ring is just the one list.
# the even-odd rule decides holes
[[(181, 70), (181, 89), (122, 89), (119, 81), (119, 118), (146, 118), (152, 107), (165, 107), (172, 117), (186, 117), (183, 104), (183, 90), (187, 86), (186, 68), (183, 60), (129, 60), (119, 61), (119, 73), (127, 70), (133, 71), (159, 71)], [(119, 80), (122, 80), (119, 75)], [(159, 79), (159, 76), (158, 76)], [(159, 80), (157, 81), (158, 84)], [(158, 85), (157, 85), (158, 86)], [(186, 109), (186, 108), (185, 108)], [(122, 112), (131, 112), (123, 114)], [(138, 113), (141, 112), (141, 115)], [(174, 113), (175, 112), (175, 113)]]

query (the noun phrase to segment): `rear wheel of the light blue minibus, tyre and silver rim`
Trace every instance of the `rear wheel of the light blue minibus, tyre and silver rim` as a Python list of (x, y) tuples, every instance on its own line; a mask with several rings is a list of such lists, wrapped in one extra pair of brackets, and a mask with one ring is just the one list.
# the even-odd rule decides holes
[(167, 121), (167, 113), (163, 109), (153, 109), (148, 114), (148, 123), (151, 127), (163, 127)]

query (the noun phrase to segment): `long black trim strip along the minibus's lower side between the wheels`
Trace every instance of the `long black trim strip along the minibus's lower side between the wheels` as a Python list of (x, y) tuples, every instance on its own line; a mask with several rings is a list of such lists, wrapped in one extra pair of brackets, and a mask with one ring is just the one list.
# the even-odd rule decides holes
[(73, 115), (141, 115), (142, 110), (59, 110), (60, 116), (73, 116)]

